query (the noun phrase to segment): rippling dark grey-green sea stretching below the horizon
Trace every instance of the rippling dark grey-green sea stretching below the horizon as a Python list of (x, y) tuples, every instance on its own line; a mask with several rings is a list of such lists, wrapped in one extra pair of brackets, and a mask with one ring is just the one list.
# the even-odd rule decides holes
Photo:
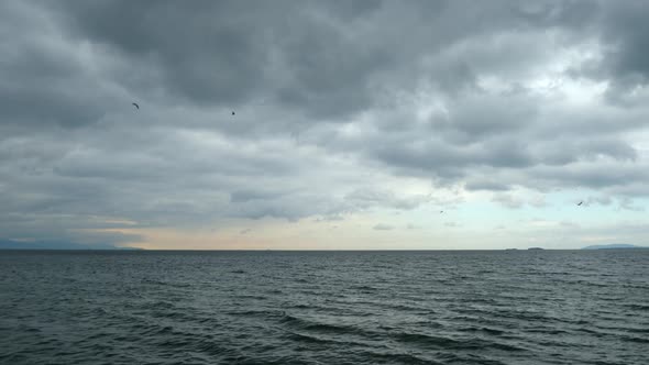
[(649, 364), (649, 250), (1, 251), (0, 364)]

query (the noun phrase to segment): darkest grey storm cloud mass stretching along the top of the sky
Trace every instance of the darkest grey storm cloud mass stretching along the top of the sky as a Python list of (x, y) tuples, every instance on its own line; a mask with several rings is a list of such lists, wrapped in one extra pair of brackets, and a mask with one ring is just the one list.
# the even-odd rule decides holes
[[(117, 59), (106, 73), (129, 90), (151, 97), (155, 90), (166, 96), (164, 102), (201, 106), (265, 96), (317, 118), (372, 107), (376, 88), (407, 87), (404, 81), (416, 80), (409, 77), (422, 76), (409, 71), (420, 67), (421, 56), (471, 32), (574, 26), (572, 21), (582, 19), (574, 14), (588, 13), (584, 2), (529, 7), (503, 1), (475, 9), (457, 1), (403, 7), (378, 1), (73, 1), (46, 7), (62, 35)], [(433, 22), (422, 26), (427, 18)], [(450, 63), (461, 74), (428, 76), (455, 88), (463, 74), (472, 75), (464, 62)], [(69, 63), (67, 68), (78, 70)]]

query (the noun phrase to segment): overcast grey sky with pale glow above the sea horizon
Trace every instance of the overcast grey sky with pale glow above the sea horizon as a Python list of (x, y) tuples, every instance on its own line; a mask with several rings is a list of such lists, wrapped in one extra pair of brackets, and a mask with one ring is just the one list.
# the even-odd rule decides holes
[(647, 19), (639, 0), (2, 1), (0, 240), (649, 245)]

